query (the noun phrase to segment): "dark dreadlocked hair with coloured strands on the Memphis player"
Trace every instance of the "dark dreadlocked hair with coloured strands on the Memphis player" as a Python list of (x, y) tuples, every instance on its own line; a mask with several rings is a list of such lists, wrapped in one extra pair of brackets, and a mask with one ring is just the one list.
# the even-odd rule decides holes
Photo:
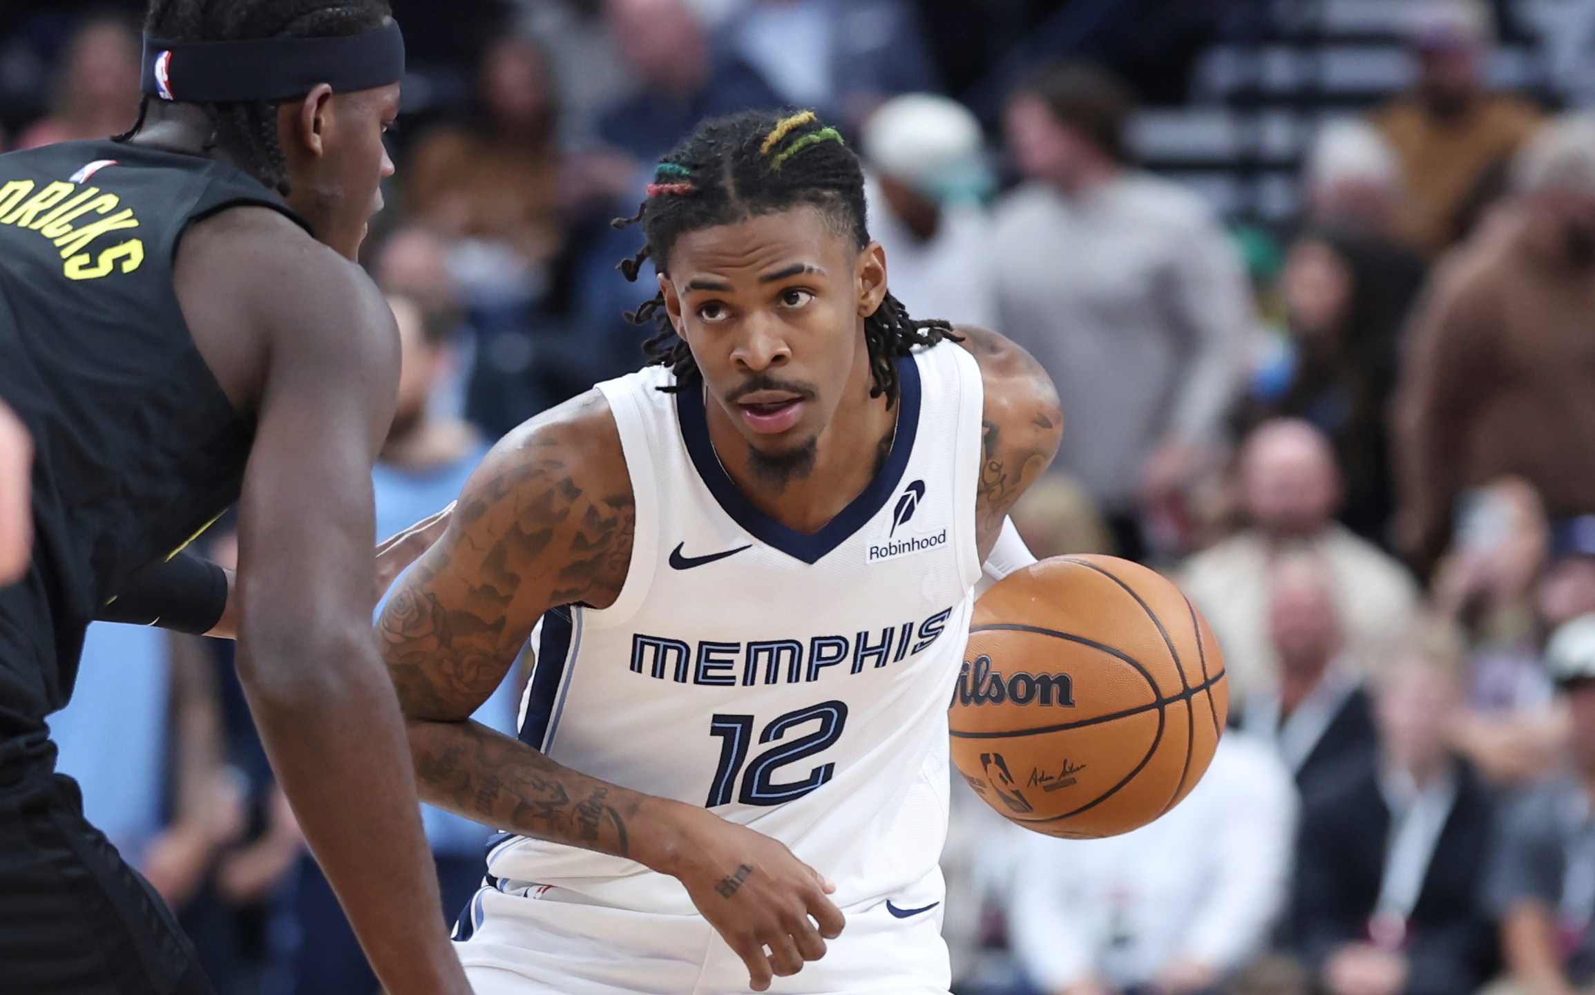
[[(812, 110), (751, 110), (705, 121), (659, 163), (636, 217), (616, 222), (616, 228), (641, 223), (648, 239), (641, 252), (620, 262), (620, 271), (633, 282), (644, 262), (665, 273), (670, 249), (683, 234), (799, 206), (818, 207), (860, 249), (869, 244), (864, 174), (834, 128)], [(638, 325), (657, 325), (657, 335), (643, 344), (651, 364), (670, 367), (678, 384), (699, 376), (692, 351), (665, 314), (664, 292), (627, 317)], [(864, 319), (874, 376), (869, 395), (885, 395), (888, 405), (895, 402), (896, 359), (941, 340), (959, 341), (949, 322), (914, 321), (903, 303), (887, 293)]]

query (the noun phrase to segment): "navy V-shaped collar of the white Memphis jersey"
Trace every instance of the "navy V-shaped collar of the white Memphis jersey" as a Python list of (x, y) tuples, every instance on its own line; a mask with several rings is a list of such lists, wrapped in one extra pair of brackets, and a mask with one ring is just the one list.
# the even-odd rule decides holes
[(869, 482), (869, 486), (858, 498), (853, 498), (852, 504), (812, 536), (805, 536), (759, 510), (726, 474), (726, 467), (721, 466), (719, 456), (715, 454), (715, 445), (708, 439), (703, 391), (676, 394), (676, 421), (681, 424), (681, 439), (687, 445), (692, 466), (697, 467), (703, 486), (715, 496), (719, 507), (764, 545), (778, 549), (804, 563), (818, 563), (874, 518), (876, 512), (885, 507), (892, 494), (896, 493), (898, 482), (903, 480), (908, 458), (914, 453), (914, 437), (919, 434), (919, 364), (912, 356), (898, 357), (898, 384), (896, 435), (892, 439), (892, 451), (887, 453), (885, 466)]

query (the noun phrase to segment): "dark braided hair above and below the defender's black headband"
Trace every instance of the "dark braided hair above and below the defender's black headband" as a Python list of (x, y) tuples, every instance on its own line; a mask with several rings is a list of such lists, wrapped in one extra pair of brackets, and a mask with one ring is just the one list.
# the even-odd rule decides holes
[[(257, 38), (340, 38), (381, 27), (388, 0), (150, 0), (145, 33), (171, 41), (252, 41)], [(201, 104), (215, 126), (207, 148), (225, 144), (268, 187), (289, 193), (289, 163), (278, 142), (279, 102)], [(139, 104), (139, 134), (150, 97)]]

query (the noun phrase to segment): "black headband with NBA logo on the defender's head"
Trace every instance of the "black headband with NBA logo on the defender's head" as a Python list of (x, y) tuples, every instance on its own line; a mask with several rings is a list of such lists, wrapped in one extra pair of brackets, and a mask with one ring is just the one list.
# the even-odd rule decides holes
[(402, 77), (404, 35), (392, 19), (341, 38), (144, 38), (144, 92), (183, 104), (289, 100), (319, 83), (352, 92), (388, 86)]

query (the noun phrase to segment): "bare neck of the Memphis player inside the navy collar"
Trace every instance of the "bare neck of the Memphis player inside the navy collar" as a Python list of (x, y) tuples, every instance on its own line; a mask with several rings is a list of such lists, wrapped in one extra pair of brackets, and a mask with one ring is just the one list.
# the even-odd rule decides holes
[(710, 442), (726, 474), (761, 512), (812, 536), (869, 486), (892, 450), (901, 405), (869, 397), (869, 383), (850, 391), (815, 443), (813, 467), (802, 477), (770, 480), (753, 466), (746, 440), (719, 405), (708, 405)]

